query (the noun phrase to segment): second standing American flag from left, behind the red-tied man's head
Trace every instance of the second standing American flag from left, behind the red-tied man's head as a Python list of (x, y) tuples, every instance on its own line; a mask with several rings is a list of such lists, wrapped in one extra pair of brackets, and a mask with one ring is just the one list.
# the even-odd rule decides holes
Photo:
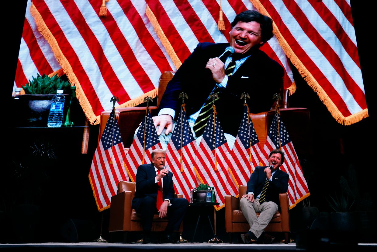
[(145, 119), (141, 122), (124, 160), (124, 165), (132, 182), (136, 181), (136, 172), (139, 165), (150, 164), (150, 154), (152, 151), (162, 149), (149, 108), (147, 108), (145, 113)]

